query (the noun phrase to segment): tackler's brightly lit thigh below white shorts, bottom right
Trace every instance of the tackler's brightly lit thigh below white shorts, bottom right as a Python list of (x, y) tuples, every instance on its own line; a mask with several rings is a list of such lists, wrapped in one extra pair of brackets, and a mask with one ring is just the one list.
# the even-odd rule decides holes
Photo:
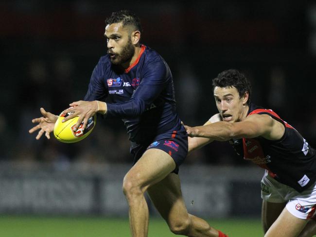
[(293, 216), (284, 208), (264, 237), (297, 237), (306, 223), (307, 220)]

